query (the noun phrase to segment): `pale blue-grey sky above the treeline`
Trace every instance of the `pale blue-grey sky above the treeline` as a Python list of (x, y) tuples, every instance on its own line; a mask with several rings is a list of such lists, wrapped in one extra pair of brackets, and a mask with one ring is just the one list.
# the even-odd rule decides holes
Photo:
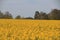
[(33, 17), (35, 11), (50, 12), (52, 9), (60, 9), (60, 0), (0, 0), (0, 10), (9, 11), (14, 17)]

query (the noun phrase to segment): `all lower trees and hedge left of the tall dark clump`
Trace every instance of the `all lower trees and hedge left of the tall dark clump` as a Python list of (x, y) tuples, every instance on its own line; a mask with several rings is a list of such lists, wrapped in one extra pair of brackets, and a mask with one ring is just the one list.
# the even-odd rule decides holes
[(15, 18), (13, 18), (12, 14), (6, 11), (5, 13), (2, 13), (0, 11), (0, 19), (33, 19), (32, 17), (21, 17), (20, 15), (17, 15)]

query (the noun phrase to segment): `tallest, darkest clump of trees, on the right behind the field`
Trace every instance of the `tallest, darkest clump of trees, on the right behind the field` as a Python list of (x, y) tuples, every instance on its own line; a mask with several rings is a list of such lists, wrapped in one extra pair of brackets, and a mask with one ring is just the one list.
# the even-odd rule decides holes
[(50, 13), (36, 11), (34, 19), (60, 20), (60, 10), (53, 9)]

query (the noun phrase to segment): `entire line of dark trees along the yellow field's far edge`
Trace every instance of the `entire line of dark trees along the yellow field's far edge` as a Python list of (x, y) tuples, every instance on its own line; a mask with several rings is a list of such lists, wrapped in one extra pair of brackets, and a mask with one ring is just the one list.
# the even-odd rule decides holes
[[(0, 19), (13, 19), (13, 16), (8, 11), (5, 13), (2, 13), (0, 11)], [(34, 18), (32, 17), (23, 18), (20, 15), (17, 15), (15, 19), (60, 20), (60, 10), (53, 9), (50, 13), (36, 11)]]

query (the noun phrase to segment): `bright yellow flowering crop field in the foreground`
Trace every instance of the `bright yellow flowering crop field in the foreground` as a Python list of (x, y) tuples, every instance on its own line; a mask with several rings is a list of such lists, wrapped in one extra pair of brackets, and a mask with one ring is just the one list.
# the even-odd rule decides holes
[(0, 40), (60, 40), (60, 21), (0, 19)]

